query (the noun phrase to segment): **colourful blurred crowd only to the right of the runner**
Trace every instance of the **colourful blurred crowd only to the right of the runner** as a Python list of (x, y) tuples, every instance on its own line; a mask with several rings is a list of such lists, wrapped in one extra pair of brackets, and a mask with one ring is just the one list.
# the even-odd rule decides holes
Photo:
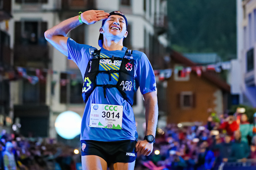
[[(254, 117), (256, 120), (256, 117)], [(158, 128), (154, 151), (138, 155), (136, 169), (218, 170), (223, 162), (256, 159), (256, 128), (244, 113), (217, 116), (207, 124), (169, 124)]]

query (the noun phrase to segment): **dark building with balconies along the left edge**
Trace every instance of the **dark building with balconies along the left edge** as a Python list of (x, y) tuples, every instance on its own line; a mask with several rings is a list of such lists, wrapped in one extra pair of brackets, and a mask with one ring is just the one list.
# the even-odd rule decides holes
[(13, 63), (10, 48), (10, 20), (12, 19), (11, 2), (0, 0), (0, 130), (11, 130), (13, 105), (10, 98), (10, 83)]

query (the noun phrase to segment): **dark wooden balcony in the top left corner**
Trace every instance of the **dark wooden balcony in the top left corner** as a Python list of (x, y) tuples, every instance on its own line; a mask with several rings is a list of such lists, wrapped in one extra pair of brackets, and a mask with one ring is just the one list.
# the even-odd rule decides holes
[(3, 20), (10, 20), (12, 1), (11, 0), (0, 0), (0, 22)]

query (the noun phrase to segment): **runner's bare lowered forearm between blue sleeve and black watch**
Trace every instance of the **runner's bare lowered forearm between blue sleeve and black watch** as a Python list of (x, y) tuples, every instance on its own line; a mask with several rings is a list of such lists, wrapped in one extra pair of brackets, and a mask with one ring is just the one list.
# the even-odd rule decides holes
[(156, 92), (146, 93), (144, 95), (146, 103), (146, 135), (156, 135), (156, 126), (158, 121), (158, 104)]

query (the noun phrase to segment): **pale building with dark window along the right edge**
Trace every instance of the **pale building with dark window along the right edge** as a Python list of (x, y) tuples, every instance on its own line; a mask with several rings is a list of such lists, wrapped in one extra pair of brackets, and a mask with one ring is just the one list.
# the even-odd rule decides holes
[(237, 0), (237, 43), (241, 101), (256, 107), (256, 0)]

